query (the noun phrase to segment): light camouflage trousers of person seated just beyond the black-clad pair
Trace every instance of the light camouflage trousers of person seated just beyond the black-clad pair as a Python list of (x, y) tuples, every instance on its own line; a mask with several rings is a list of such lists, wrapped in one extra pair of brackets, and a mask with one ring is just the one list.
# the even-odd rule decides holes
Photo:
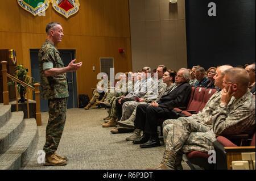
[(123, 107), (122, 107), (122, 117), (121, 117), (121, 121), (124, 120), (130, 120), (133, 121), (135, 120), (136, 117), (136, 107), (139, 104), (149, 104), (146, 102), (135, 102), (135, 101), (127, 101), (125, 103), (123, 103)]

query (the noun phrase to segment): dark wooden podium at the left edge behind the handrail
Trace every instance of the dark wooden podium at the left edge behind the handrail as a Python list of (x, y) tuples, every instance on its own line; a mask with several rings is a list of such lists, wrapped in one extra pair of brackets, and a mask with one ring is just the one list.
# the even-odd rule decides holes
[[(16, 52), (13, 49), (0, 49), (0, 62), (7, 61), (7, 73), (14, 75), (16, 67)], [(8, 86), (9, 99), (15, 100), (15, 87), (14, 85)], [(3, 103), (3, 77), (2, 77), (2, 64), (0, 63), (0, 103)]]

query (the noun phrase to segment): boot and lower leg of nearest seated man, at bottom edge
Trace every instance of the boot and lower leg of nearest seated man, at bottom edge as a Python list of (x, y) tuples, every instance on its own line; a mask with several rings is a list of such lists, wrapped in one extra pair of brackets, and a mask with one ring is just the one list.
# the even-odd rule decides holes
[(147, 170), (175, 170), (175, 155), (171, 151), (164, 151), (162, 162), (154, 167)]

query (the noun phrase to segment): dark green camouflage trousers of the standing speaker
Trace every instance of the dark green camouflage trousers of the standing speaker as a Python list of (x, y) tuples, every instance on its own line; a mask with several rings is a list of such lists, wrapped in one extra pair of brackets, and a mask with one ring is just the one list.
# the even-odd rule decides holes
[(49, 119), (46, 127), (46, 144), (43, 148), (46, 154), (54, 153), (59, 146), (66, 121), (67, 100), (67, 98), (48, 100)]

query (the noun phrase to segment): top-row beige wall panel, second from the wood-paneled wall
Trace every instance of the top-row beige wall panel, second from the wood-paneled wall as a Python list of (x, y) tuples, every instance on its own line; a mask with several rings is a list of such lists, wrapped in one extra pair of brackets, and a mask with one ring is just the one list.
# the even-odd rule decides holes
[(144, 0), (145, 3), (145, 20), (160, 19), (160, 3), (159, 0)]

